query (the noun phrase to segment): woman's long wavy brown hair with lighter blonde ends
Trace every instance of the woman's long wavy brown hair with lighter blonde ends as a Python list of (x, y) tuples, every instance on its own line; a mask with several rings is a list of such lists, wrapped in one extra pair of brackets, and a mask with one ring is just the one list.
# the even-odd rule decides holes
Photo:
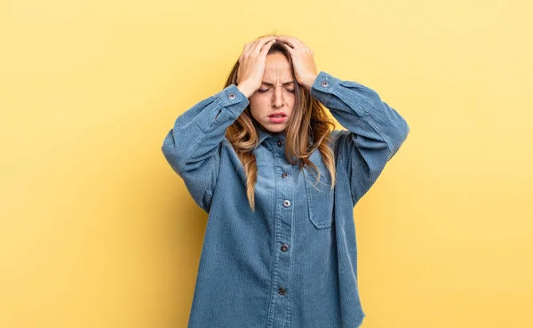
[[(286, 130), (286, 147), (285, 156), (291, 164), (298, 164), (298, 169), (304, 166), (310, 166), (318, 173), (316, 181), (320, 181), (320, 171), (316, 165), (309, 160), (309, 156), (318, 148), (322, 161), (326, 165), (331, 176), (332, 189), (335, 185), (335, 160), (333, 151), (328, 146), (330, 141), (331, 130), (335, 124), (330, 121), (321, 103), (311, 97), (311, 93), (300, 84), (296, 83), (292, 66), (292, 58), (286, 45), (282, 42), (275, 41), (272, 44), (268, 54), (281, 52), (289, 60), (292, 78), (295, 81), (296, 102), (289, 117), (289, 124)], [(229, 76), (227, 77), (224, 87), (231, 84), (237, 85), (237, 72), (239, 70), (239, 61), (235, 62)], [(259, 134), (254, 125), (255, 119), (251, 116), (250, 106), (247, 106), (243, 113), (237, 117), (236, 121), (231, 124), (226, 131), (226, 138), (235, 148), (235, 152), (243, 163), (244, 172), (246, 173), (246, 195), (252, 211), (255, 210), (255, 184), (258, 176), (258, 166), (256, 157), (252, 150), (257, 147)], [(309, 142), (313, 140), (312, 142)]]

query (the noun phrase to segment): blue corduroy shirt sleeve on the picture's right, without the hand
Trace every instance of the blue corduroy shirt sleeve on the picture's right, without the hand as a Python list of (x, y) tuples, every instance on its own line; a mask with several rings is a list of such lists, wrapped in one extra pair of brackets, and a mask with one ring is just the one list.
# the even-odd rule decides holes
[(355, 205), (407, 139), (410, 127), (377, 92), (357, 82), (321, 71), (310, 92), (347, 129), (332, 132), (332, 145)]

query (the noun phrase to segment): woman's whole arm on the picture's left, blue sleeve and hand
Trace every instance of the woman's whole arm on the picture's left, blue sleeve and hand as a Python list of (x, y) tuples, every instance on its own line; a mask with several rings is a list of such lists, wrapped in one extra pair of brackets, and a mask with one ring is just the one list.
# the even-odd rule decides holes
[(163, 141), (164, 156), (205, 212), (211, 208), (227, 127), (243, 113), (250, 104), (248, 97), (261, 85), (274, 41), (274, 36), (264, 36), (245, 44), (239, 57), (238, 86), (231, 84), (188, 109)]

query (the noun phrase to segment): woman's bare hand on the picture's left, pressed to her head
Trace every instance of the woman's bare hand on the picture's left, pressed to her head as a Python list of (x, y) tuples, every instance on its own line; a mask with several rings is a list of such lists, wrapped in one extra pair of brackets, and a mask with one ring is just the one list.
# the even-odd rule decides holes
[(243, 53), (239, 57), (237, 88), (246, 95), (246, 98), (250, 98), (263, 83), (267, 53), (274, 42), (275, 36), (263, 36), (244, 45)]

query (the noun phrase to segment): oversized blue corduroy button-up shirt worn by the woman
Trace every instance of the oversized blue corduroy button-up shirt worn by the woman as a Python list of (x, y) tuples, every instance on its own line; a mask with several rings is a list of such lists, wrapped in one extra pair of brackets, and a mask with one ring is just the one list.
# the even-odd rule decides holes
[(246, 176), (225, 137), (249, 105), (235, 84), (180, 115), (163, 154), (209, 213), (189, 328), (359, 327), (354, 206), (378, 179), (410, 128), (377, 92), (321, 71), (310, 90), (346, 130), (331, 133), (336, 186), (285, 158), (285, 135), (257, 125), (255, 212)]

